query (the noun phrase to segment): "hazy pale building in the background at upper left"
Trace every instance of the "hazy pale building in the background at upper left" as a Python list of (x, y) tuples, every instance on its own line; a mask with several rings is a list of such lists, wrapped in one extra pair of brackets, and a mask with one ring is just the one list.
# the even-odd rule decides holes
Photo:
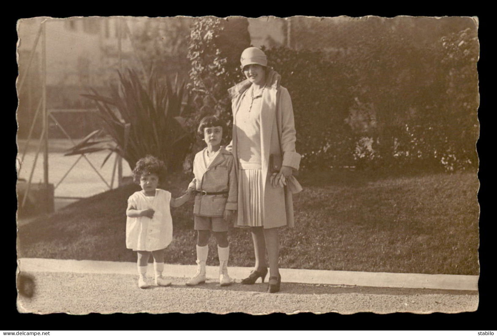
[[(105, 89), (111, 82), (116, 81), (118, 69), (136, 67), (139, 60), (134, 57), (131, 39), (125, 35), (125, 26), (117, 17), (38, 17), (19, 21), (19, 81), (27, 72), (22, 87), (18, 86), (17, 120), (20, 138), (27, 136), (41, 99), (44, 41), (43, 34), (38, 35), (44, 20), (47, 108), (82, 111), (71, 115), (60, 114), (58, 117), (61, 123), (67, 124), (65, 128), (68, 133), (81, 137), (95, 127), (94, 118), (83, 111), (92, 108), (92, 102), (81, 94), (90, 93), (90, 88)], [(126, 23), (132, 30), (136, 22), (138, 21), (127, 20)], [(38, 124), (41, 122), (37, 121)], [(38, 136), (40, 131), (41, 127), (35, 127), (33, 135)], [(59, 129), (51, 127), (50, 136), (64, 135)]]

